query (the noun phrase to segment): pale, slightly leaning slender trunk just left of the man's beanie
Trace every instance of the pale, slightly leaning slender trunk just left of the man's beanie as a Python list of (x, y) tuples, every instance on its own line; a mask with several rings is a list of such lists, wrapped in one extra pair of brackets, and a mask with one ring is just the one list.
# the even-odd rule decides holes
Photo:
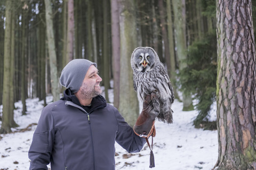
[(52, 96), (53, 101), (57, 101), (60, 99), (59, 96), (59, 79), (57, 77), (57, 57), (55, 52), (55, 43), (54, 43), (54, 35), (53, 35), (53, 23), (52, 23), (52, 7), (51, 1), (45, 0), (45, 19), (46, 19), (46, 34), (47, 34), (47, 44), (48, 44), (48, 52), (50, 58), (50, 72), (51, 72), (51, 88), (52, 88)]

